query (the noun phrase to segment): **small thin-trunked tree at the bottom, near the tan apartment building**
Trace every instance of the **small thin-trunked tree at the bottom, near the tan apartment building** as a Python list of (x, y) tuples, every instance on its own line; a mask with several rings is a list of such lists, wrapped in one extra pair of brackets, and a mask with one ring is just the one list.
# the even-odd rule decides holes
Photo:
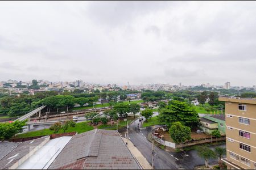
[(216, 158), (216, 154), (213, 150), (211, 150), (207, 146), (197, 146), (196, 147), (197, 154), (204, 159), (205, 167), (209, 167), (209, 159)]

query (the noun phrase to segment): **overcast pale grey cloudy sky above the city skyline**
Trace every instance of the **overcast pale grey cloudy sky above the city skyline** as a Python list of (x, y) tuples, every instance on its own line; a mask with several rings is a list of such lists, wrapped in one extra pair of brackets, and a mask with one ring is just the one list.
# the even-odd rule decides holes
[(255, 2), (0, 2), (0, 80), (256, 84)]

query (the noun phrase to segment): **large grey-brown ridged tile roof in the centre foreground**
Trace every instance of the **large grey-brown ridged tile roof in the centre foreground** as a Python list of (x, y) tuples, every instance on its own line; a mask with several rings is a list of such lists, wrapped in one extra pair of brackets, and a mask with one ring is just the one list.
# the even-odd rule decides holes
[(94, 129), (73, 136), (49, 169), (139, 169), (115, 130)]

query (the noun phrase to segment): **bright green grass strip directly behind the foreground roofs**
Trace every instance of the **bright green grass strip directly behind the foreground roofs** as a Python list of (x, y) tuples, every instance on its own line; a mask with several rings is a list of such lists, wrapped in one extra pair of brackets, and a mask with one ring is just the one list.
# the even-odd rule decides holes
[[(65, 132), (77, 131), (77, 133), (83, 133), (89, 130), (93, 130), (93, 127), (89, 126), (88, 121), (86, 121), (86, 122), (77, 123), (76, 127), (74, 128), (69, 127)], [(64, 131), (63, 129), (60, 129), (57, 133), (64, 133)], [(51, 134), (53, 134), (52, 130), (43, 129), (43, 130), (30, 131), (28, 133), (19, 134), (19, 135), (16, 135), (15, 138), (27, 138), (27, 137), (36, 137), (36, 136), (51, 135)]]

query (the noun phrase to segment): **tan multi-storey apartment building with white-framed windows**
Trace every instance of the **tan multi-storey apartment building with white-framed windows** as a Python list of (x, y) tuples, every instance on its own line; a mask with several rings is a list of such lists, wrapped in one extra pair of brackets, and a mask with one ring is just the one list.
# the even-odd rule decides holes
[(256, 169), (256, 99), (219, 97), (225, 101), (228, 169)]

